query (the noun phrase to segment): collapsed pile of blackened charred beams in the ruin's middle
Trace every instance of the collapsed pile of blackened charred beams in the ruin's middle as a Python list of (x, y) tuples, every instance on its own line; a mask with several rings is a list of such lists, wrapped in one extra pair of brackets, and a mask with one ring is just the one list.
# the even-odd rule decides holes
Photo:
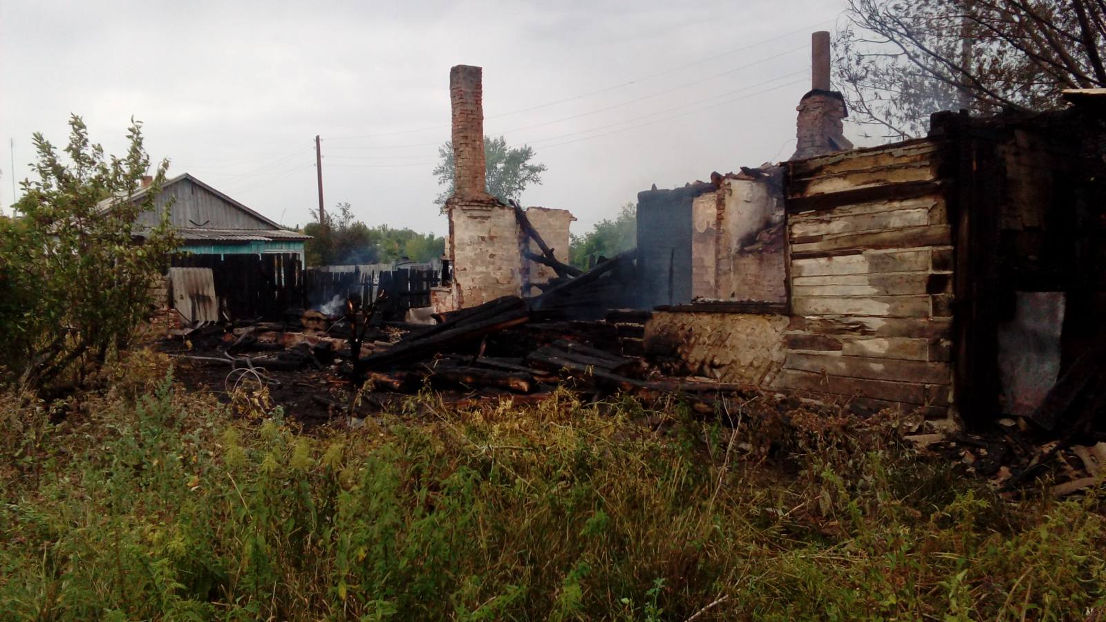
[[(553, 249), (530, 231), (524, 214), (520, 222), (552, 265)], [(510, 296), (436, 314), (438, 323), (432, 325), (385, 322), (375, 313), (379, 300), (363, 304), (349, 297), (340, 317), (309, 311), (283, 323), (254, 323), (233, 331), (212, 328), (205, 339), (216, 343), (202, 349), (213, 350), (212, 355), (197, 356), (201, 352), (190, 345), (180, 355), (270, 372), (265, 377), (273, 382), (278, 376), (272, 373), (320, 371), (324, 375), (316, 377), (326, 383), (320, 384), (323, 392), (334, 384), (367, 384), (372, 391), (364, 398), (377, 406), (428, 386), (452, 392), (444, 400), (456, 404), (461, 397), (479, 401), (499, 395), (536, 401), (564, 385), (584, 398), (618, 392), (650, 400), (682, 394), (697, 411), (714, 413), (720, 392), (752, 392), (745, 386), (662, 377), (641, 357), (649, 313), (611, 310), (633, 293), (628, 289), (635, 271), (633, 252), (582, 274), (555, 268), (559, 280), (536, 298)], [(399, 333), (403, 336), (396, 340)], [(191, 333), (191, 339), (199, 336)], [(280, 377), (289, 386), (306, 386), (295, 376)], [(330, 400), (317, 397), (320, 404)], [(352, 413), (353, 406), (346, 412)]]

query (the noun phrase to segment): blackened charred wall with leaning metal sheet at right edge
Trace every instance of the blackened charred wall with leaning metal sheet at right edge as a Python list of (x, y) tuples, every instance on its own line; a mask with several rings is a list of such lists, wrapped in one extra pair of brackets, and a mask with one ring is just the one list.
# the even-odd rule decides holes
[(1026, 415), (1106, 312), (1106, 124), (1068, 108), (931, 127), (956, 153), (957, 400), (977, 425)]

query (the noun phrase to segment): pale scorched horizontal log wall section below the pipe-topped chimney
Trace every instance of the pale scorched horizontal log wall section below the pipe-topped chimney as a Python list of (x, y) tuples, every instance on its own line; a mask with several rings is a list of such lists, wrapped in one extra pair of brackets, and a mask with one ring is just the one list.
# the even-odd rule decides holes
[(947, 414), (952, 230), (938, 139), (789, 164), (791, 324), (774, 387)]

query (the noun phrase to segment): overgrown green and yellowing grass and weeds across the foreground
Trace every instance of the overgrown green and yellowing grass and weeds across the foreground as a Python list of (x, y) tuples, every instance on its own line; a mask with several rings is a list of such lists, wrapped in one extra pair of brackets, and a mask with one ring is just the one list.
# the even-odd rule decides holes
[[(734, 405), (450, 412), (352, 432), (124, 366), (58, 427), (0, 402), (3, 620), (1082, 620), (1096, 497), (1009, 501), (895, 422)], [(720, 602), (717, 602), (720, 601)]]

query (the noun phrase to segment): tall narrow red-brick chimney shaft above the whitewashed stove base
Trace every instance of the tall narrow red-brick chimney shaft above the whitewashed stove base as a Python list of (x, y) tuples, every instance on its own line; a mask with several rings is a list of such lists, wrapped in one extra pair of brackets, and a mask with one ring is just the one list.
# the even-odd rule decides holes
[(449, 100), (453, 112), (453, 198), (488, 200), (483, 153), (481, 69), (456, 65), (449, 70)]

